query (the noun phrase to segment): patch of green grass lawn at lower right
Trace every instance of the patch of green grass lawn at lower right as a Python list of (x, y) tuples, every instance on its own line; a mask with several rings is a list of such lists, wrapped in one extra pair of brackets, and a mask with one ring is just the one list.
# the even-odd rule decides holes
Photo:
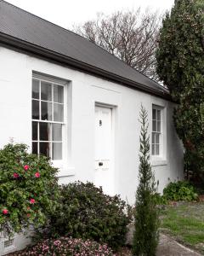
[(204, 254), (204, 203), (168, 206), (161, 212), (161, 231)]

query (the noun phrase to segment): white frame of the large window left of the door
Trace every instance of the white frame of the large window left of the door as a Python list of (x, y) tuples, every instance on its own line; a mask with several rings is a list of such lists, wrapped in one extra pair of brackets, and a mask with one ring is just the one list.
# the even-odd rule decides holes
[[(51, 120), (41, 120), (41, 108), (39, 108), (39, 117), (40, 119), (32, 119), (31, 117), (31, 122), (36, 121), (36, 122), (45, 122), (48, 124), (61, 124), (62, 125), (62, 160), (52, 160), (54, 167), (59, 168), (60, 172), (63, 172), (65, 170), (65, 166), (68, 165), (68, 144), (67, 144), (67, 86), (68, 83), (65, 80), (60, 80), (60, 79), (54, 79), (46, 75), (41, 75), (37, 73), (32, 74), (32, 79), (37, 79), (42, 82), (48, 82), (50, 84), (57, 84), (60, 86), (64, 87), (64, 119), (63, 122), (58, 122), (58, 121), (51, 121)], [(53, 86), (52, 86), (53, 88)], [(39, 92), (41, 93), (41, 92)], [(41, 101), (41, 97), (39, 97), (39, 101)], [(32, 114), (32, 113), (31, 113)], [(38, 130), (39, 130), (39, 125), (38, 125)], [(39, 142), (39, 131), (38, 131), (38, 139), (37, 141)], [(33, 142), (33, 140), (32, 140)], [(38, 148), (39, 151), (39, 148)], [(67, 170), (67, 168), (66, 168)], [(61, 175), (59, 175), (61, 176)], [(65, 175), (66, 176), (66, 175)]]

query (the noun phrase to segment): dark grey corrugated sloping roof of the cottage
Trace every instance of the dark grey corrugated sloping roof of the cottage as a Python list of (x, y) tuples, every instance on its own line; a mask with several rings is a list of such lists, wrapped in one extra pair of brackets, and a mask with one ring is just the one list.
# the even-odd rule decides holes
[(69, 59), (70, 65), (78, 63), (79, 67), (81, 64), (81, 67), (88, 67), (89, 72), (97, 70), (98, 74), (109, 79), (116, 77), (122, 84), (168, 98), (167, 90), (160, 84), (127, 66), (105, 49), (3, 0), (0, 0), (0, 36), (1, 43), (12, 44), (13, 38), (16, 47), (20, 47), (20, 42), (21, 48), (36, 46), (38, 53), (40, 49), (44, 49), (47, 53), (52, 53), (53, 58), (58, 55), (58, 61), (61, 56), (64, 62)]

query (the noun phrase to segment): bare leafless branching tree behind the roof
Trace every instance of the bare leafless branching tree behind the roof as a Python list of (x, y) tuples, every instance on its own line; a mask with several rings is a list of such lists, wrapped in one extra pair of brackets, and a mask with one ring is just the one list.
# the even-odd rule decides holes
[(109, 51), (129, 66), (156, 79), (156, 42), (160, 15), (146, 10), (99, 14), (74, 31)]

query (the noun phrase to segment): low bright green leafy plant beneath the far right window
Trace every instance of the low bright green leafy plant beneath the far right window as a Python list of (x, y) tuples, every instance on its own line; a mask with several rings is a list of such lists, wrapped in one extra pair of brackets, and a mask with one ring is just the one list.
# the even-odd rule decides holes
[(163, 189), (163, 196), (169, 201), (195, 201), (197, 194), (195, 188), (187, 181), (169, 183)]

